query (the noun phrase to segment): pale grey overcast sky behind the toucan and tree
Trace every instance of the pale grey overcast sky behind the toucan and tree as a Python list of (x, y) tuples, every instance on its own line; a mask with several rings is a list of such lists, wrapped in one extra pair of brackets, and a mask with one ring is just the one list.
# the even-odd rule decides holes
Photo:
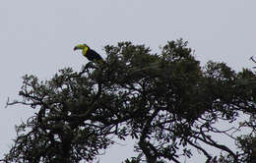
[[(14, 126), (33, 114), (21, 105), (5, 108), (8, 97), (19, 99), (22, 76), (48, 80), (66, 67), (81, 70), (87, 61), (73, 51), (78, 43), (87, 43), (104, 58), (107, 44), (132, 41), (160, 52), (166, 41), (179, 38), (189, 42), (202, 66), (213, 60), (235, 71), (251, 69), (255, 6), (255, 0), (1, 1), (0, 158), (16, 136)], [(129, 142), (126, 146), (115, 146), (101, 161), (117, 163), (132, 156)]]

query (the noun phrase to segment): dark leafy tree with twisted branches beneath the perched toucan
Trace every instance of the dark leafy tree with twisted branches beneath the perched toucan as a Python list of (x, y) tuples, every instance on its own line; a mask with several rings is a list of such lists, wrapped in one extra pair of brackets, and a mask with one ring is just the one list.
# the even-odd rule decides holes
[[(198, 154), (192, 148), (206, 162), (249, 157), (243, 147), (234, 151), (212, 135), (229, 136), (245, 146), (242, 137), (232, 136), (238, 129), (216, 125), (233, 123), (241, 114), (255, 115), (251, 71), (235, 73), (213, 61), (202, 68), (182, 39), (167, 42), (160, 54), (131, 42), (104, 50), (105, 64), (89, 63), (79, 73), (66, 68), (49, 81), (24, 77), (23, 100), (8, 105), (29, 105), (37, 112), (17, 127), (18, 136), (3, 162), (89, 161), (113, 145), (113, 137), (127, 136), (137, 140), (138, 156), (126, 163), (180, 162)], [(205, 145), (224, 155), (211, 153)]]

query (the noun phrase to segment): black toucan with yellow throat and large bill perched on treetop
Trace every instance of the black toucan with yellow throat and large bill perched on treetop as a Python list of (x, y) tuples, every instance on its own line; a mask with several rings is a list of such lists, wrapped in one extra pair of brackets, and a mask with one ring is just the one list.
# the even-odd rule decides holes
[(89, 60), (96, 64), (104, 63), (102, 57), (93, 49), (91, 49), (87, 44), (78, 44), (74, 47), (74, 50), (82, 50), (82, 54)]

